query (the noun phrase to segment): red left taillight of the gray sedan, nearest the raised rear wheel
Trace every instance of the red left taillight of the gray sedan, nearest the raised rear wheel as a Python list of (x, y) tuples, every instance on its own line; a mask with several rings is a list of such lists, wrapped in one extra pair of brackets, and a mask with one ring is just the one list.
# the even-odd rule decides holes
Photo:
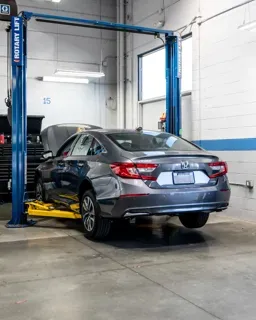
[(142, 179), (155, 181), (157, 178), (151, 176), (157, 164), (152, 163), (132, 163), (132, 162), (118, 162), (110, 165), (112, 171), (119, 177), (126, 179)]

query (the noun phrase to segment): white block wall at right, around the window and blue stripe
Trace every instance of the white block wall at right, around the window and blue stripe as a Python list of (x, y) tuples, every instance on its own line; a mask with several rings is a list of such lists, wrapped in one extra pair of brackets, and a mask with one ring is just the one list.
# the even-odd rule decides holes
[[(176, 30), (189, 24), (195, 16), (206, 19), (242, 2), (244, 0), (166, 0), (164, 28)], [(162, 1), (134, 0), (128, 8), (132, 23), (154, 27), (164, 18), (160, 10), (162, 4)], [(192, 30), (193, 33), (192, 140), (256, 137), (256, 33), (238, 30), (244, 19), (249, 21), (249, 16), (256, 20), (255, 1), (201, 26), (194, 24), (184, 32)], [(134, 127), (138, 122), (137, 56), (160, 44), (160, 40), (150, 36), (128, 37), (127, 127)], [(187, 128), (183, 119), (184, 125)], [(183, 128), (183, 132), (185, 130)], [(245, 184), (248, 179), (256, 183), (256, 151), (215, 153), (228, 161), (231, 183)], [(229, 214), (255, 220), (256, 192), (232, 186)]]

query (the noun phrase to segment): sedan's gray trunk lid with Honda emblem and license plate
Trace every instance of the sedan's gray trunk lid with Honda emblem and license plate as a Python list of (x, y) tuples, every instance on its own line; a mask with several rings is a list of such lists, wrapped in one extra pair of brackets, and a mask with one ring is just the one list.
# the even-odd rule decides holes
[[(213, 169), (209, 163), (219, 159), (205, 151), (195, 152), (134, 152), (132, 161), (140, 174), (144, 175), (143, 165), (157, 165), (147, 172), (152, 179), (143, 179), (150, 188), (195, 188), (216, 183), (211, 179)], [(143, 164), (143, 165), (142, 165)]]

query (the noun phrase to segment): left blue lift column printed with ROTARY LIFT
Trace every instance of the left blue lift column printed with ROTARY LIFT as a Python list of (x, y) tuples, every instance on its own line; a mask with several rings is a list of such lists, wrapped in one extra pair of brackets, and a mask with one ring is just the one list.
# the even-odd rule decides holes
[(22, 17), (11, 20), (12, 61), (12, 219), (8, 227), (30, 225), (24, 214), (26, 201), (27, 153), (27, 23)]

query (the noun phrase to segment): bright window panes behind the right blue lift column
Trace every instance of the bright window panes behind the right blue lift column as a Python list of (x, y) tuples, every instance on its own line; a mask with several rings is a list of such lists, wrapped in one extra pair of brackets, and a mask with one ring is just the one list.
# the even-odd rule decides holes
[[(192, 91), (192, 36), (182, 38), (181, 91)], [(165, 49), (157, 48), (139, 56), (139, 100), (166, 95)]]

